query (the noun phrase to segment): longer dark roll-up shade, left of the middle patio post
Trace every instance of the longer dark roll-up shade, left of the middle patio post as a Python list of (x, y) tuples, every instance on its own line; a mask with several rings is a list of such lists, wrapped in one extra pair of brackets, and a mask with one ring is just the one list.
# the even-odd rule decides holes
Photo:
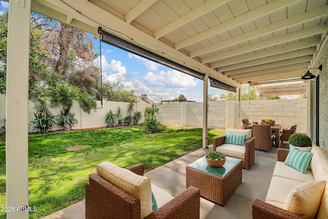
[(123, 50), (126, 50), (133, 54), (147, 58), (153, 62), (159, 63), (161, 65), (167, 66), (169, 68), (175, 69), (177, 71), (180, 71), (180, 72), (183, 72), (183, 73), (186, 73), (191, 76), (194, 76), (194, 77), (204, 80), (205, 74), (203, 74), (201, 72), (195, 71), (191, 68), (188, 68), (186, 66), (175, 63), (168, 58), (162, 57), (154, 52), (151, 52), (151, 51), (141, 48), (137, 45), (134, 45), (130, 42), (127, 42), (124, 39), (114, 36), (113, 34), (108, 33), (104, 30), (101, 30), (101, 35), (102, 35), (101, 42), (107, 43), (109, 45), (115, 46), (115, 47), (123, 49)]

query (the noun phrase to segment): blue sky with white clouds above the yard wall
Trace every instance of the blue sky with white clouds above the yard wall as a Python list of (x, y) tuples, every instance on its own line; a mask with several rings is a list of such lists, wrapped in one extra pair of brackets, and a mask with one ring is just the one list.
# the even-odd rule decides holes
[[(0, 1), (0, 14), (9, 3)], [(99, 48), (99, 41), (93, 41)], [(98, 51), (99, 52), (99, 49)], [(99, 57), (96, 59), (99, 63)], [(104, 80), (121, 78), (126, 88), (136, 95), (147, 94), (153, 101), (170, 100), (184, 94), (189, 101), (202, 102), (203, 81), (185, 73), (159, 65), (127, 51), (101, 43)], [(224, 90), (209, 87), (209, 94), (219, 97)]]

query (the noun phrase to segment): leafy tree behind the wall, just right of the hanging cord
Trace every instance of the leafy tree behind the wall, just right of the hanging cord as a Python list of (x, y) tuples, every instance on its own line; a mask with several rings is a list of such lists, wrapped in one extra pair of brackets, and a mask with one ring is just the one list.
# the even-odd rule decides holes
[(103, 97), (106, 101), (116, 102), (137, 102), (134, 90), (127, 90), (122, 79), (118, 78), (115, 82), (105, 82), (103, 84)]

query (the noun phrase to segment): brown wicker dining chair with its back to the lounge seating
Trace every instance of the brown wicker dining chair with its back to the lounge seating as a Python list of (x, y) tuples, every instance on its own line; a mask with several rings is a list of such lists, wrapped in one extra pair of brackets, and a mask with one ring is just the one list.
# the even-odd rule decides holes
[(253, 137), (255, 137), (255, 149), (271, 150), (274, 135), (271, 134), (270, 125), (253, 125)]

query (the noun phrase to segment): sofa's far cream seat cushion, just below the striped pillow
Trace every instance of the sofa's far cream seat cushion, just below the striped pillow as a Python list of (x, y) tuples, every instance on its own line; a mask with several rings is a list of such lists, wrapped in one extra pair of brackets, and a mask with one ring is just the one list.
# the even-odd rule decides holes
[(299, 181), (302, 183), (314, 181), (311, 170), (306, 170), (305, 174), (300, 173), (295, 170), (293, 167), (285, 165), (281, 161), (277, 161), (276, 167), (273, 171), (273, 176), (280, 176), (283, 178), (289, 178), (290, 180)]

